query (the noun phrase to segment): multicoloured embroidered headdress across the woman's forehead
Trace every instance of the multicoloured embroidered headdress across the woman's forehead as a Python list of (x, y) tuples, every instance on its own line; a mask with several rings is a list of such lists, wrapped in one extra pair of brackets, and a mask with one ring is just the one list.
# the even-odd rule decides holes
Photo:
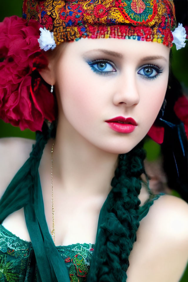
[(23, 17), (53, 31), (56, 44), (81, 37), (113, 37), (169, 47), (176, 27), (172, 0), (25, 0)]

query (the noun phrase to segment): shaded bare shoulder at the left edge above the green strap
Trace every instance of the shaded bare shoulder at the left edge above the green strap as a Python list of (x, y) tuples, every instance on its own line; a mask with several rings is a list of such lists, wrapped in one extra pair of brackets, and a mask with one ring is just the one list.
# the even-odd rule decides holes
[(28, 159), (35, 142), (20, 137), (0, 138), (0, 198), (16, 172)]

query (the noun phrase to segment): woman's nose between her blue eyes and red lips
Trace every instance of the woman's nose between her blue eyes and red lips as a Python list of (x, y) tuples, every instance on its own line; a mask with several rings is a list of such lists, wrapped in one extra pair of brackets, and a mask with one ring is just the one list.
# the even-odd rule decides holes
[(114, 105), (126, 104), (127, 107), (131, 107), (137, 105), (139, 101), (140, 95), (135, 74), (127, 73), (119, 77), (113, 95)]

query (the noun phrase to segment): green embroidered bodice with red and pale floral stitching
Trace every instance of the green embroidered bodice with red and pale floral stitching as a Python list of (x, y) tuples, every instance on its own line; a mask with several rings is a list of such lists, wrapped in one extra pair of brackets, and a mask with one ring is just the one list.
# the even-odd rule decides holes
[[(94, 244), (57, 246), (68, 269), (70, 282), (87, 280)], [(0, 281), (40, 281), (31, 242), (19, 239), (0, 224)]]

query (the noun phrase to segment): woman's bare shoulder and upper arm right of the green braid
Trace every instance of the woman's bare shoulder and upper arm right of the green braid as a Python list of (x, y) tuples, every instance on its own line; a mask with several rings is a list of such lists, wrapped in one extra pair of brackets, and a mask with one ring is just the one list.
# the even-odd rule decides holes
[(188, 259), (187, 234), (188, 204), (170, 195), (155, 200), (140, 221), (127, 282), (178, 282)]

